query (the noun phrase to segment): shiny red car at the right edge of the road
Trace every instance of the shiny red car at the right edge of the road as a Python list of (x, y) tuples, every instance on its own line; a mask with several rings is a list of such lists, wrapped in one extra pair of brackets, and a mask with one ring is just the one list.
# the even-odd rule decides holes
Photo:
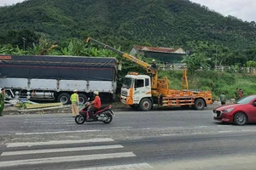
[(256, 122), (256, 95), (242, 98), (232, 105), (221, 105), (213, 110), (214, 120), (245, 125)]

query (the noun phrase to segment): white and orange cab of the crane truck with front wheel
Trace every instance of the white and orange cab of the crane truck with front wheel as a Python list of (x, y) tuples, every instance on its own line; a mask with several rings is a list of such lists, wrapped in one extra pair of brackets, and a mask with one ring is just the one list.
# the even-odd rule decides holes
[[(137, 73), (130, 73), (125, 76), (121, 88), (121, 102), (125, 105), (130, 105), (131, 108), (142, 109), (143, 111), (152, 108), (152, 94), (151, 94), (151, 80), (147, 75), (138, 75)], [(144, 100), (150, 100), (143, 102)]]

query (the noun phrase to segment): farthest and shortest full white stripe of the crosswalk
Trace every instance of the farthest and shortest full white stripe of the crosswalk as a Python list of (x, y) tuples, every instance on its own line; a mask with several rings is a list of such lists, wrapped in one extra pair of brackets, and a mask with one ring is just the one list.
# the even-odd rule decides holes
[(38, 146), (38, 145), (52, 145), (52, 144), (84, 144), (95, 142), (113, 142), (113, 139), (84, 139), (84, 140), (53, 140), (48, 142), (24, 142), (24, 143), (9, 143), (8, 148), (20, 147), (20, 146)]

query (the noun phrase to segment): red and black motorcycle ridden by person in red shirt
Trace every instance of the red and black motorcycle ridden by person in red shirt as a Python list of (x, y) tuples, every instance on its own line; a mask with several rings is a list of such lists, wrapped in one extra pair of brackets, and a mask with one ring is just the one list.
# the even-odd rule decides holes
[(89, 103), (85, 103), (84, 107), (80, 109), (79, 115), (75, 117), (77, 124), (83, 124), (84, 122), (104, 122), (108, 124), (113, 120), (113, 111), (111, 110), (112, 105), (102, 106), (98, 111), (93, 113), (91, 119), (89, 117)]

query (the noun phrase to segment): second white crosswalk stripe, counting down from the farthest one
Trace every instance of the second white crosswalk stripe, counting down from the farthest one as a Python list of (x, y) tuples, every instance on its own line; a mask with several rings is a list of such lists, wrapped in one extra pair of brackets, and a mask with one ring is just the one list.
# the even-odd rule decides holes
[(113, 145), (75, 147), (75, 148), (64, 148), (64, 149), (8, 151), (8, 152), (3, 152), (1, 156), (20, 156), (20, 155), (28, 155), (28, 154), (44, 154), (44, 153), (80, 151), (80, 150), (81, 151), (82, 150), (109, 150), (109, 149), (119, 149), (119, 148), (124, 148), (124, 146), (120, 144), (113, 144)]

